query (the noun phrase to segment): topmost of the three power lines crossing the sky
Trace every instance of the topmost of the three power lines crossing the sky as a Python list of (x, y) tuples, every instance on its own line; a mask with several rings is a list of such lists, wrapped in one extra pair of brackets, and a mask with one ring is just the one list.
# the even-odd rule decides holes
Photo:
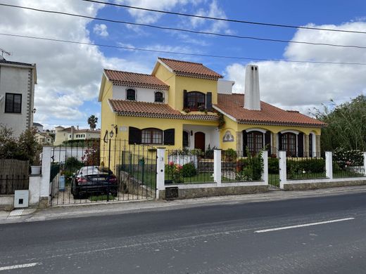
[(127, 6), (122, 4), (113, 4), (103, 1), (95, 1), (95, 0), (82, 0), (97, 4), (104, 4), (109, 6), (120, 6), (122, 8), (134, 8), (141, 11), (153, 11), (155, 13), (165, 13), (165, 14), (172, 14), (172, 15), (182, 15), (187, 17), (193, 17), (193, 18), (201, 18), (201, 19), (208, 19), (208, 20), (220, 20), (225, 22), (237, 22), (237, 23), (244, 23), (244, 24), (251, 24), (251, 25), (263, 25), (263, 26), (270, 26), (270, 27), (288, 27), (293, 29), (303, 29), (303, 30), (324, 30), (329, 32), (351, 32), (351, 33), (360, 33), (360, 34), (366, 34), (366, 32), (360, 32), (356, 30), (334, 30), (334, 29), (327, 29), (322, 27), (303, 27), (303, 26), (294, 26), (294, 25), (282, 25), (282, 24), (272, 24), (272, 23), (265, 23), (265, 22), (253, 22), (253, 21), (245, 21), (245, 20), (236, 20), (236, 19), (227, 19), (227, 18), (217, 18), (217, 17), (210, 17), (210, 16), (203, 16), (203, 15), (194, 15), (189, 13), (177, 13), (173, 11), (160, 11), (153, 8), (141, 8), (137, 6)]

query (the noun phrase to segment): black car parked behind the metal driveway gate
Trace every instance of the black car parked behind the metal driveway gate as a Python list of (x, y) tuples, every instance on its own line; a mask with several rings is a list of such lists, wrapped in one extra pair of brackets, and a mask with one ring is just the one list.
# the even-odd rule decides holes
[(99, 193), (111, 193), (116, 196), (118, 180), (110, 169), (98, 166), (82, 167), (72, 178), (71, 193), (74, 199)]

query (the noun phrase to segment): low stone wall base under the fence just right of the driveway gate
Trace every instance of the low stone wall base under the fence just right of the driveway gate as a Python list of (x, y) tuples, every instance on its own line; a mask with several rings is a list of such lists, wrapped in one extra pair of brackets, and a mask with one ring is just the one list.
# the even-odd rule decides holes
[[(159, 191), (159, 199), (165, 200), (165, 190), (158, 190), (158, 191)], [(174, 199), (192, 199), (192, 198), (212, 197), (222, 195), (265, 193), (267, 191), (268, 191), (268, 185), (222, 186), (216, 188), (184, 188), (184, 189), (179, 189), (178, 186), (178, 197)]]

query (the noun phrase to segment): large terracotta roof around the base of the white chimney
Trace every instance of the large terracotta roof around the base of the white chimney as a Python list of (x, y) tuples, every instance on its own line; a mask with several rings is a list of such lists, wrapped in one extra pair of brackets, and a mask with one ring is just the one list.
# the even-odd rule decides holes
[(327, 126), (324, 122), (303, 115), (297, 111), (286, 111), (274, 105), (260, 102), (260, 110), (246, 110), (244, 94), (218, 94), (217, 110), (234, 117), (240, 124), (266, 124), (280, 126), (305, 126), (322, 128)]

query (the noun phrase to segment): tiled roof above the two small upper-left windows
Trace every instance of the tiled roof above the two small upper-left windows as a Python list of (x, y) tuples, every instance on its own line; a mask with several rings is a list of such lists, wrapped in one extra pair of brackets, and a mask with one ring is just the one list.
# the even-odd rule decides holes
[(119, 86), (133, 86), (146, 89), (163, 89), (168, 91), (169, 86), (157, 77), (149, 74), (121, 72), (118, 70), (104, 70), (106, 77)]

